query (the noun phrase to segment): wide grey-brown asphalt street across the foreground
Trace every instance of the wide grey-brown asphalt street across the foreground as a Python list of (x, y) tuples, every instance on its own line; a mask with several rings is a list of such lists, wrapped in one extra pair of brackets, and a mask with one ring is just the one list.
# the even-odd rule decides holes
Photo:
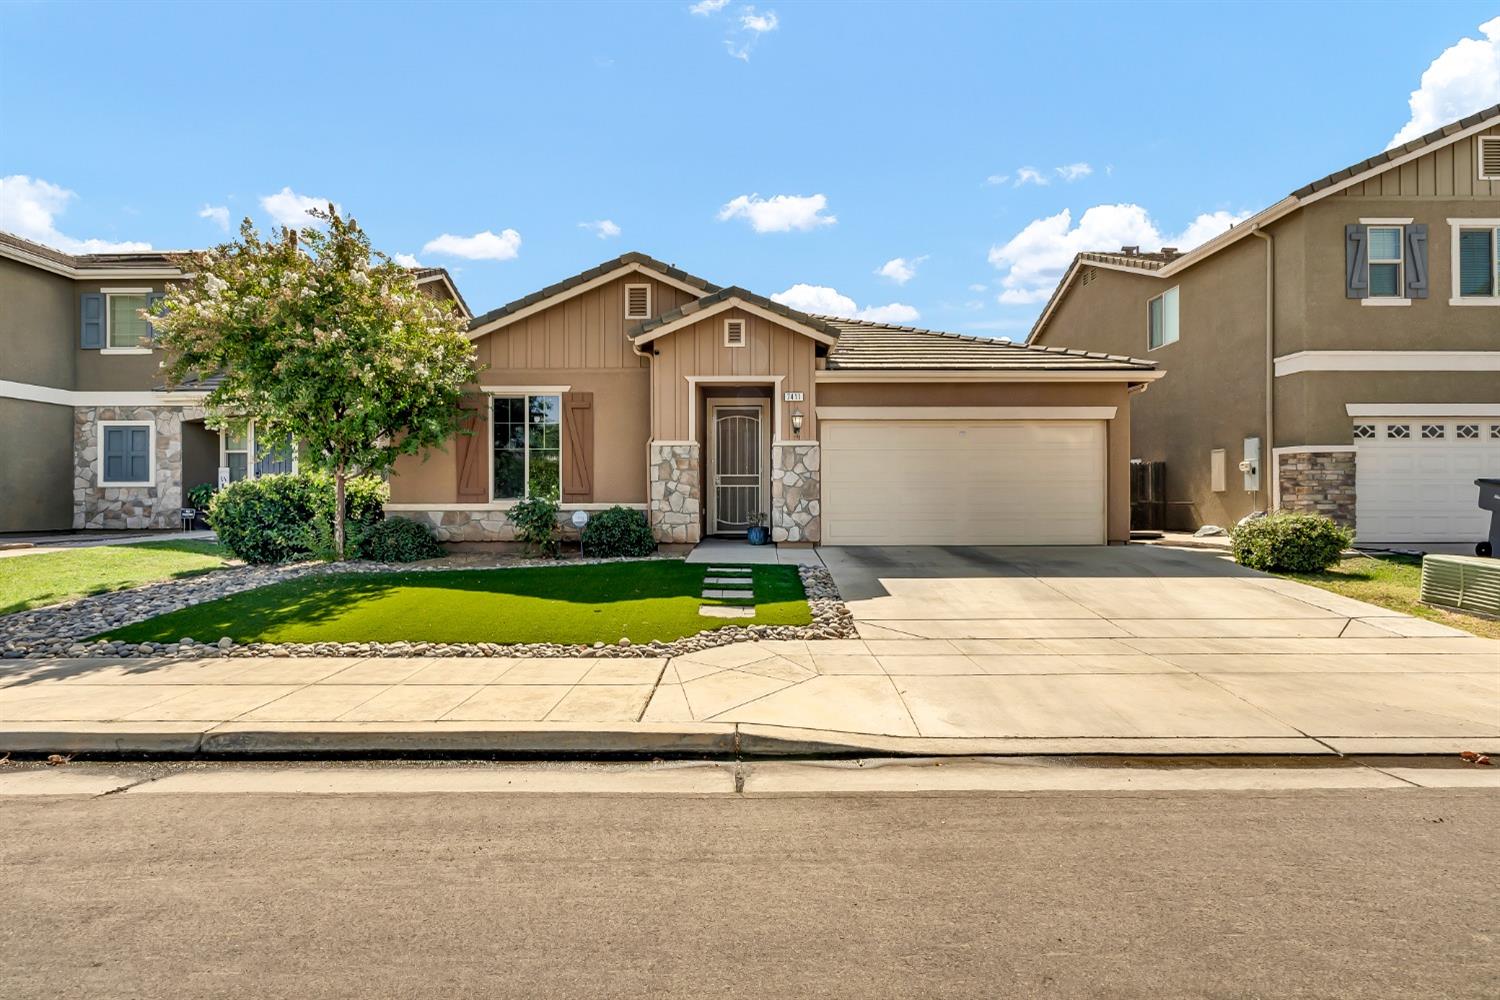
[(0, 799), (0, 996), (1494, 997), (1485, 789)]

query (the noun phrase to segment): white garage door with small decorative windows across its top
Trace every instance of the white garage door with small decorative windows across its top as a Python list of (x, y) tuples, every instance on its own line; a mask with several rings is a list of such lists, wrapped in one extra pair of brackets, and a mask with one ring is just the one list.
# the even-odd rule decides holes
[(1354, 424), (1359, 541), (1478, 541), (1490, 534), (1474, 480), (1500, 475), (1500, 420), (1360, 418)]

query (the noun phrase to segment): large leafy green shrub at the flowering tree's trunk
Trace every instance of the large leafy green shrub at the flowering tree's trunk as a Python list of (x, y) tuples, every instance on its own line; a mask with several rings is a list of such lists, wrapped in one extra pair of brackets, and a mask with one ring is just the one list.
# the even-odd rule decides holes
[[(344, 511), (350, 556), (386, 516), (390, 487), (375, 477), (345, 483)], [(333, 550), (333, 477), (327, 472), (262, 475), (230, 483), (214, 493), (208, 519), (237, 559), (254, 564), (326, 556)]]

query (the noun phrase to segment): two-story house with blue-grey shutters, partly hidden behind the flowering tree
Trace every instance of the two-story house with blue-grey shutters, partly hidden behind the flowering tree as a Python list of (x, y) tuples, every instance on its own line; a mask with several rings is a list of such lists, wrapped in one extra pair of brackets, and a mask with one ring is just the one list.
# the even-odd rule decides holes
[[(69, 255), (0, 232), (0, 532), (176, 528), (186, 490), (220, 469), (296, 466), (254, 426), (210, 429), (202, 390), (162, 388), (140, 310), (182, 274), (172, 253)], [(446, 271), (417, 279), (468, 315)]]

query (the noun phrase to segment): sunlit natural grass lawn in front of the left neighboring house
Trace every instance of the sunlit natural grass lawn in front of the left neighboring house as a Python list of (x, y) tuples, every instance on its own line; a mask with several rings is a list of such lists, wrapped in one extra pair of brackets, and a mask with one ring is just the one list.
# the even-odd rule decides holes
[(8, 556), (0, 559), (0, 615), (178, 580), (225, 565), (224, 550), (212, 541), (141, 541)]

